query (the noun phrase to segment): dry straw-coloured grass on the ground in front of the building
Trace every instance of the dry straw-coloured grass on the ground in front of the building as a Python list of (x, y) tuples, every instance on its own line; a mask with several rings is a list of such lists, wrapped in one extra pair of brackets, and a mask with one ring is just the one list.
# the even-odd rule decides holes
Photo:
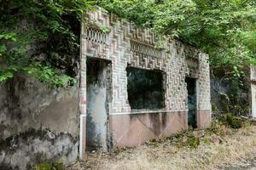
[[(219, 126), (219, 125), (218, 125)], [(222, 142), (209, 143), (212, 133), (201, 138), (196, 149), (180, 147), (173, 140), (144, 144), (134, 149), (116, 150), (111, 154), (88, 154), (86, 162), (77, 162), (70, 169), (165, 170), (218, 169), (219, 165), (237, 161), (256, 151), (256, 126), (243, 127), (236, 132), (220, 125)]]

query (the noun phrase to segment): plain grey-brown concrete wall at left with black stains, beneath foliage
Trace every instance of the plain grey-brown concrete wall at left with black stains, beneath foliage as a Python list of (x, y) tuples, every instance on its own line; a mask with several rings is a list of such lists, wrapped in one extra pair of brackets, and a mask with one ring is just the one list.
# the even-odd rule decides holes
[(32, 77), (0, 87), (0, 169), (30, 169), (44, 161), (75, 161), (79, 88), (51, 90)]

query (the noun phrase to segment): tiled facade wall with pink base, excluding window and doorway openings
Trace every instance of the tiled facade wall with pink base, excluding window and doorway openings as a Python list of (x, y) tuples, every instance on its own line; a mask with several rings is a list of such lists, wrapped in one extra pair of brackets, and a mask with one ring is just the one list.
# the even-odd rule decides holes
[[(150, 126), (154, 122), (148, 117), (159, 117), (162, 113), (168, 115), (166, 116), (168, 119), (159, 119), (160, 134), (170, 135), (186, 129), (188, 92), (185, 77), (194, 77), (198, 82), (197, 117), (206, 119), (198, 121), (202, 123), (198, 124), (198, 127), (204, 128), (210, 125), (210, 75), (207, 54), (176, 40), (168, 40), (163, 44), (163, 48), (154, 48), (157, 37), (149, 29), (137, 28), (127, 20), (121, 20), (103, 10), (89, 13), (86, 17), (90, 20), (90, 24), (84, 24), (81, 32), (80, 111), (83, 121), (86, 119), (86, 59), (94, 57), (108, 59), (112, 63), (113, 99), (109, 104), (109, 131), (112, 134), (114, 146), (142, 144), (146, 139), (160, 136), (149, 134)], [(107, 26), (110, 31), (102, 32), (99, 28), (101, 26)], [(157, 111), (131, 109), (127, 94), (127, 66), (165, 72), (165, 108)], [(147, 116), (148, 114), (150, 116)], [(131, 115), (137, 117), (132, 119), (137, 121), (131, 122), (129, 118)], [(140, 121), (142, 117), (144, 121)], [(122, 128), (119, 128), (121, 126), (119, 121), (124, 122)], [(165, 124), (164, 122), (168, 128), (160, 127), (160, 124)], [(84, 128), (86, 126), (82, 124), (81, 129)], [(137, 136), (137, 138), (131, 140), (129, 136)], [(83, 144), (80, 148), (81, 156), (84, 150)]]

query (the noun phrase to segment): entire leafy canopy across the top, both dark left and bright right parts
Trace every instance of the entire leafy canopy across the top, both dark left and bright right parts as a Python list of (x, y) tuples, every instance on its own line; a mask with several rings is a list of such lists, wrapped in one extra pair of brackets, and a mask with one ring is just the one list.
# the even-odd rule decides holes
[(201, 48), (211, 65), (255, 63), (254, 0), (0, 0), (0, 82), (17, 72), (75, 82), (79, 22), (93, 6)]

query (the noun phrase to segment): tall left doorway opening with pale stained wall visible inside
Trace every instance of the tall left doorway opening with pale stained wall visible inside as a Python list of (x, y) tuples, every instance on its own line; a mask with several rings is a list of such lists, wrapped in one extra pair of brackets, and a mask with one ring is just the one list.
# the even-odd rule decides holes
[(86, 150), (108, 151), (111, 62), (87, 58), (86, 65)]

